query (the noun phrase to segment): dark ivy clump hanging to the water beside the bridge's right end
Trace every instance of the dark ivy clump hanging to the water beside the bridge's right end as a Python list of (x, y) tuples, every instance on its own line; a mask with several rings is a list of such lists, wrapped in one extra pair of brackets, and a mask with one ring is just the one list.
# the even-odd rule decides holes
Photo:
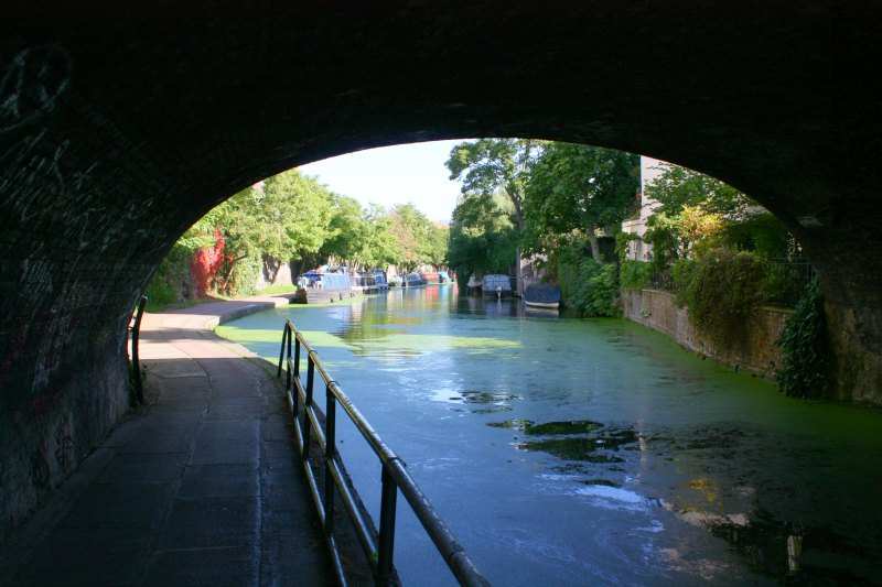
[(830, 385), (830, 350), (824, 296), (817, 280), (806, 287), (777, 341), (782, 366), (778, 389), (797, 398), (820, 398)]

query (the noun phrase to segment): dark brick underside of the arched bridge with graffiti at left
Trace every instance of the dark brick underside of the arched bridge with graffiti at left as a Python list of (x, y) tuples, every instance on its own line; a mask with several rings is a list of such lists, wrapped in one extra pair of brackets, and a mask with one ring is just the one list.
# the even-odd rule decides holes
[(175, 239), (369, 146), (537, 137), (725, 180), (819, 271), (838, 396), (882, 402), (879, 4), (160, 4), (4, 8), (0, 537), (125, 412), (127, 315)]

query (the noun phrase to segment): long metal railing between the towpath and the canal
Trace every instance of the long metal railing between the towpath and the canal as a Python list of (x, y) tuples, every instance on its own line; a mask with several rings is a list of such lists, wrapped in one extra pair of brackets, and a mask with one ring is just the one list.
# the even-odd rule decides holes
[[(300, 377), (301, 348), (306, 355), (305, 387)], [(358, 542), (367, 561), (370, 563), (375, 584), (387, 586), (397, 580), (392, 565), (392, 554), (395, 550), (396, 500), (400, 490), (460, 585), (490, 585), (431, 507), (428, 498), (420, 491), (417, 482), (407, 471), (405, 463), (383, 442), (365, 416), (352, 403), (352, 400), (331, 379), (318, 354), (310, 347), (291, 320), (286, 320), (284, 329), (282, 330), (278, 377), (282, 376), (283, 365), (287, 366), (286, 392), (293, 414), (294, 438), (303, 463), (310, 492), (331, 551), (334, 569), (341, 584), (346, 585), (346, 576), (334, 534), (335, 493), (338, 494), (338, 499), (354, 526)], [(320, 414), (314, 404), (316, 371), (325, 387), (324, 426), (322, 426)], [(364, 439), (367, 441), (383, 467), (378, 534), (373, 524), (368, 525), (368, 520), (365, 519), (368, 514), (363, 513), (357, 492), (347, 482), (348, 476), (336, 449), (337, 404), (343, 407), (352, 423), (355, 424)], [(321, 457), (319, 458), (315, 458), (315, 455), (312, 455), (310, 450), (313, 441), (315, 441), (321, 452)], [(320, 491), (311, 460), (319, 460), (316, 466), (323, 466), (324, 488), (322, 491)]]

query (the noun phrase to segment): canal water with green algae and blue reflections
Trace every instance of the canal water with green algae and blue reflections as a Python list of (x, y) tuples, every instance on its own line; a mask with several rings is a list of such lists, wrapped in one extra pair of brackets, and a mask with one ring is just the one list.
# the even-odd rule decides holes
[[(218, 333), (273, 360), (284, 318), (496, 585), (882, 580), (879, 411), (785, 398), (626, 320), (451, 286)], [(352, 426), (337, 434), (376, 520), (378, 461)], [(404, 580), (453, 584), (398, 504)]]

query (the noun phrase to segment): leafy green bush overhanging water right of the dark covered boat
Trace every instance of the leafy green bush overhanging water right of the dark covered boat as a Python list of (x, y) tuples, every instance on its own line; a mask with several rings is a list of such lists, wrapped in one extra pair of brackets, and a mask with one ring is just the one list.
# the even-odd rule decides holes
[(584, 243), (563, 247), (558, 256), (557, 278), (566, 305), (580, 316), (619, 316), (619, 275), (612, 263), (598, 263)]

